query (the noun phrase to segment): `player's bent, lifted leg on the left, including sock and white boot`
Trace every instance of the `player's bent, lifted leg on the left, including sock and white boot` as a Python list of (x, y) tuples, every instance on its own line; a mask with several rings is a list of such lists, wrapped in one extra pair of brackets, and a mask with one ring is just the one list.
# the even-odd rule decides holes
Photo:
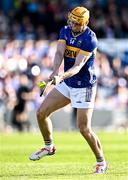
[(44, 99), (39, 110), (37, 111), (37, 120), (39, 124), (40, 131), (42, 133), (45, 148), (38, 152), (33, 153), (30, 156), (30, 160), (39, 160), (41, 157), (46, 155), (52, 155), (55, 153), (55, 148), (53, 146), (53, 136), (52, 136), (52, 122), (49, 115), (70, 103), (70, 100), (61, 94), (56, 88), (54, 88)]

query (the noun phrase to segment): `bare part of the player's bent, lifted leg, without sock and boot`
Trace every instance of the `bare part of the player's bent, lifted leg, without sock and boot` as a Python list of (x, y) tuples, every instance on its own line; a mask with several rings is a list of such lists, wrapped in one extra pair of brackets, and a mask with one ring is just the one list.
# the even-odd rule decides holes
[(52, 140), (52, 123), (49, 115), (70, 103), (70, 100), (54, 88), (37, 111), (37, 120), (44, 140)]

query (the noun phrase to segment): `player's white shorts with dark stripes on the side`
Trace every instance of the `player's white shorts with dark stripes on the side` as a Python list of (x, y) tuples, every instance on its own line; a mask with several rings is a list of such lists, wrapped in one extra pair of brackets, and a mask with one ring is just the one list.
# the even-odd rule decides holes
[(61, 94), (71, 100), (74, 108), (94, 108), (96, 86), (87, 88), (72, 88), (62, 82), (55, 87)]

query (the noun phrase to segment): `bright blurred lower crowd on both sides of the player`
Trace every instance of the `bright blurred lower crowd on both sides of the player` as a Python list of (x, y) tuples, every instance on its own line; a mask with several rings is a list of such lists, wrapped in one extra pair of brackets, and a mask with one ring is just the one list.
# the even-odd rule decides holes
[[(52, 72), (55, 50), (56, 41), (1, 40), (0, 109), (5, 112), (4, 121), (11, 119), (11, 124), (20, 131), (24, 126), (29, 130), (28, 113), (35, 111), (42, 101), (37, 82), (47, 80)], [(95, 108), (128, 112), (128, 63), (124, 65), (120, 57), (98, 51), (95, 66), (98, 77)], [(62, 67), (63, 64), (60, 71)]]

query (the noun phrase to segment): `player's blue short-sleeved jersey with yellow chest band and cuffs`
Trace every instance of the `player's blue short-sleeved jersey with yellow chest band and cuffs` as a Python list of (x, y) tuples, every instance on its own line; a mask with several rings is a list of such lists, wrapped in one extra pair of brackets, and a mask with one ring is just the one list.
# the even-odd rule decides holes
[(95, 33), (87, 27), (84, 32), (74, 36), (69, 26), (64, 26), (60, 31), (60, 42), (66, 42), (64, 53), (64, 71), (70, 69), (79, 52), (89, 56), (85, 65), (74, 76), (65, 79), (65, 83), (73, 88), (92, 87), (96, 83), (94, 71), (94, 60), (97, 49), (97, 38)]

